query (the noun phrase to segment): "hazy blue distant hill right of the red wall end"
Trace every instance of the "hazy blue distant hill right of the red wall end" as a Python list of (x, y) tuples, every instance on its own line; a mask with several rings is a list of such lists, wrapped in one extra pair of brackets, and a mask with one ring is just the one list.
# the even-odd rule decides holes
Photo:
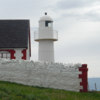
[(88, 84), (90, 90), (96, 90), (95, 84), (97, 87), (97, 91), (100, 91), (100, 78), (88, 78)]

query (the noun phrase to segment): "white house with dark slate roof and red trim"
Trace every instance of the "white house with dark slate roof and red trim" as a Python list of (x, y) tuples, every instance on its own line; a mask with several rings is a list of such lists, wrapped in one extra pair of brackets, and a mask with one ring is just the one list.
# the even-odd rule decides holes
[(0, 20), (0, 58), (29, 60), (29, 20)]

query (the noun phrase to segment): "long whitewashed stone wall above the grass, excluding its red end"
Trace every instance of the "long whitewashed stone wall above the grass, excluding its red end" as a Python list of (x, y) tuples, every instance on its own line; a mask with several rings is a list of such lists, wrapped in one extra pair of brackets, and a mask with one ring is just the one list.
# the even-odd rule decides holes
[(78, 67), (59, 63), (0, 60), (0, 80), (70, 91), (79, 91)]

